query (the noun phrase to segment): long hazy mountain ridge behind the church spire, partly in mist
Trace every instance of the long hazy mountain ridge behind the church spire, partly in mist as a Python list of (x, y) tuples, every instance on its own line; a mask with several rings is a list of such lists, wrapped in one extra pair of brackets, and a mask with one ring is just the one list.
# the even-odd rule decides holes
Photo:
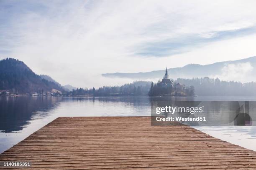
[[(165, 64), (168, 65), (168, 63)], [(164, 72), (165, 70), (137, 73), (116, 72), (102, 74), (102, 76), (146, 80), (161, 78), (164, 76)], [(256, 56), (242, 60), (216, 62), (208, 65), (189, 64), (185, 65), (184, 67), (169, 68), (168, 73), (169, 77), (173, 79), (193, 77), (219, 77), (223, 80), (235, 80), (236, 78), (239, 78), (241, 81), (255, 81)]]

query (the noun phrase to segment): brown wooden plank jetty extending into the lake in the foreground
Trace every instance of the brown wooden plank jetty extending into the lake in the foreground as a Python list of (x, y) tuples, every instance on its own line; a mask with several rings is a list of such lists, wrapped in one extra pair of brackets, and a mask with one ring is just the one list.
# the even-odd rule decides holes
[[(256, 170), (256, 152), (150, 117), (59, 117), (0, 155), (28, 170)], [(3, 165), (3, 164), (2, 164)]]

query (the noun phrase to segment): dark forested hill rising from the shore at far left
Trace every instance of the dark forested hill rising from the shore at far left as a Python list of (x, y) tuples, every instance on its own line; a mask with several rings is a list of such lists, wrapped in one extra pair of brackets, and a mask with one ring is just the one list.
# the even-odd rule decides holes
[(13, 58), (0, 61), (0, 90), (24, 94), (52, 89), (64, 92), (58, 84), (40, 77), (22, 61)]

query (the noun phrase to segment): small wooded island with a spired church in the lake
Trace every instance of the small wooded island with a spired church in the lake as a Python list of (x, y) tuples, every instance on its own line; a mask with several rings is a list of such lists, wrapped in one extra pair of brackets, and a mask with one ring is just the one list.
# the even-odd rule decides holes
[(179, 82), (174, 82), (169, 79), (167, 67), (162, 81), (156, 84), (152, 82), (151, 88), (148, 92), (150, 96), (194, 96), (194, 87), (186, 87)]

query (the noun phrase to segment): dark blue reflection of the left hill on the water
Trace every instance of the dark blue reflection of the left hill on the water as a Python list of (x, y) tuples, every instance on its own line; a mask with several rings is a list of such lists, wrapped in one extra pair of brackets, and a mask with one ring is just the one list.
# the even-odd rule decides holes
[(55, 107), (60, 97), (0, 97), (0, 131), (9, 133), (22, 130), (35, 112)]

